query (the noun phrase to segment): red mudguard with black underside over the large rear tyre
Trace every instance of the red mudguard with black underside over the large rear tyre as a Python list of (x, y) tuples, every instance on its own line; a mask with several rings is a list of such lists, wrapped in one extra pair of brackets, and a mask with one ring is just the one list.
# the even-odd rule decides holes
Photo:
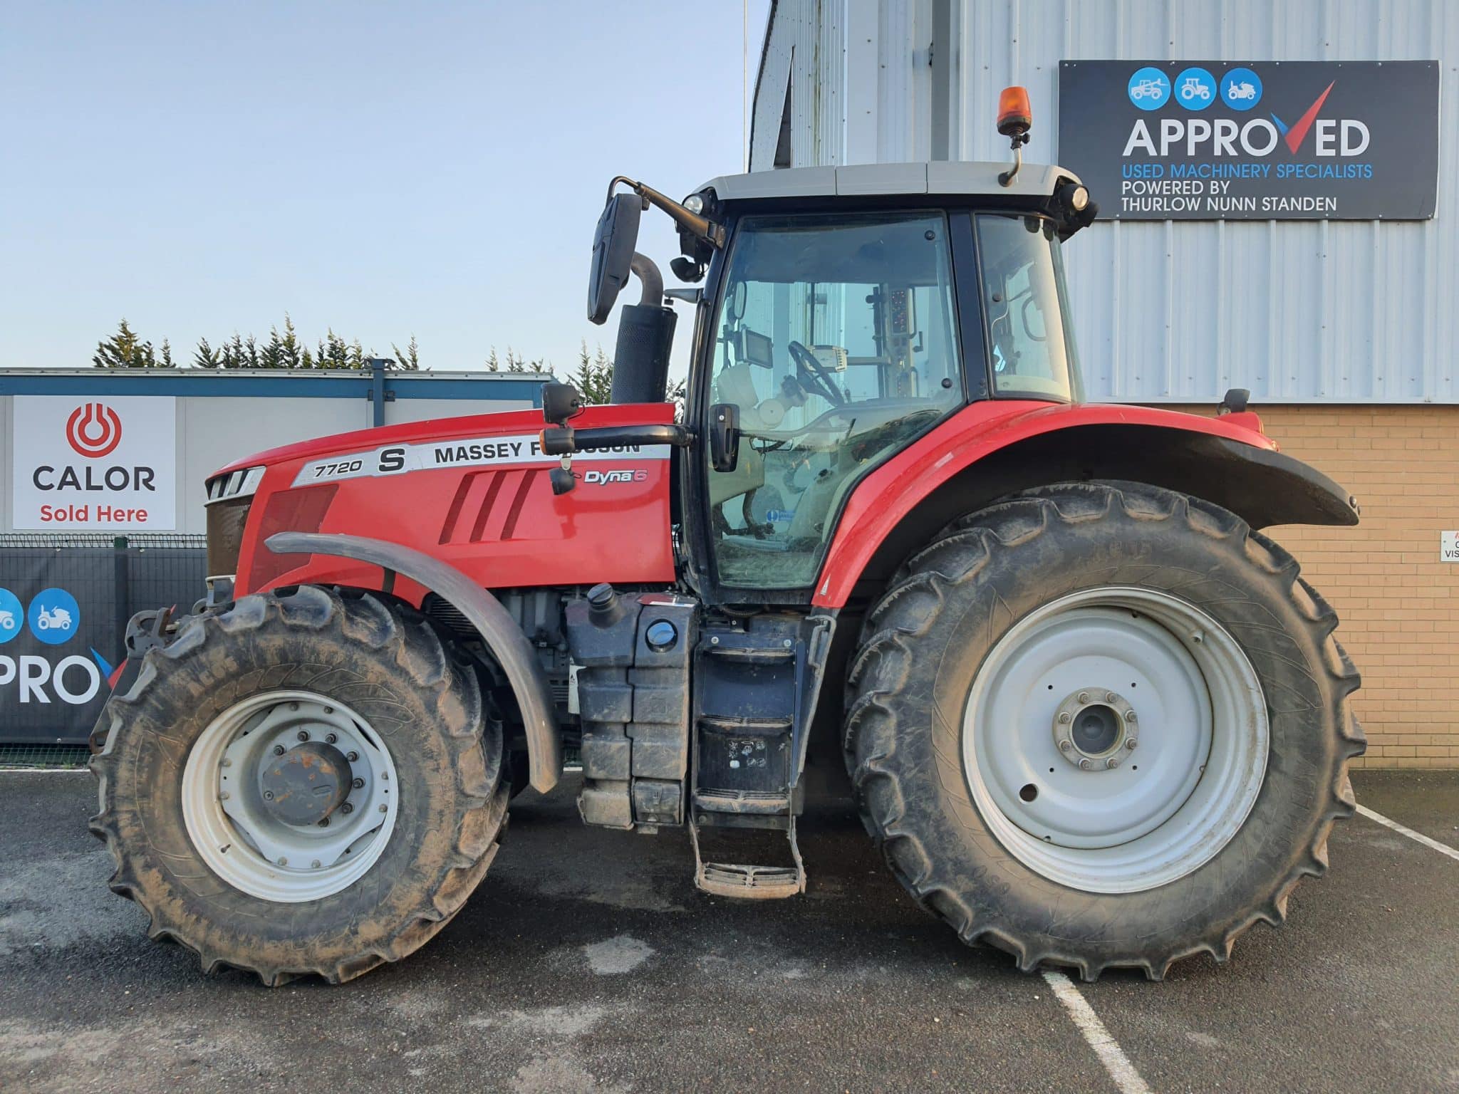
[(868, 474), (846, 502), (813, 602), (874, 592), (948, 522), (1018, 490), (1123, 480), (1202, 497), (1253, 528), (1352, 525), (1357, 500), (1282, 455), (1247, 411), (1230, 420), (1151, 407), (975, 403)]

